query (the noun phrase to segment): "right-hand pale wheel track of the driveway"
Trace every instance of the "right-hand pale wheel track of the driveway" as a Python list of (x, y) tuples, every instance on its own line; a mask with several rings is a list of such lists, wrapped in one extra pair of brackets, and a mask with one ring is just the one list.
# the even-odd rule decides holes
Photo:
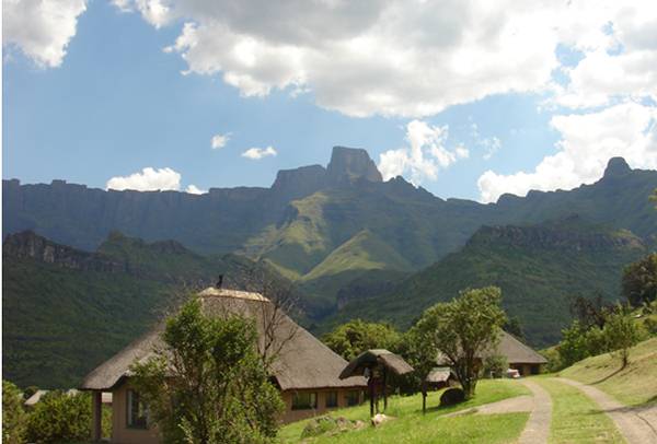
[(657, 406), (631, 408), (590, 385), (565, 377), (556, 381), (580, 389), (613, 420), (629, 444), (657, 443)]

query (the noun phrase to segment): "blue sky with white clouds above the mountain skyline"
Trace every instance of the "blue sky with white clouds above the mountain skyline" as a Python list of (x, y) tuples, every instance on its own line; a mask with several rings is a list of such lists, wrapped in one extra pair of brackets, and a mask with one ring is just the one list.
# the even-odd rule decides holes
[(655, 1), (3, 0), (2, 176), (270, 186), (366, 149), (496, 201), (657, 168)]

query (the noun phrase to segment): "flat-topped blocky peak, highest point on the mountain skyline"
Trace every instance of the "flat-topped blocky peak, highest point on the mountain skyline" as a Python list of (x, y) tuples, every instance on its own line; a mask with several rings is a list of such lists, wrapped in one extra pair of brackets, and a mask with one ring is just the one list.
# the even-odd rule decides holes
[(332, 184), (351, 183), (360, 178), (383, 182), (381, 173), (366, 150), (347, 147), (333, 147), (326, 177)]

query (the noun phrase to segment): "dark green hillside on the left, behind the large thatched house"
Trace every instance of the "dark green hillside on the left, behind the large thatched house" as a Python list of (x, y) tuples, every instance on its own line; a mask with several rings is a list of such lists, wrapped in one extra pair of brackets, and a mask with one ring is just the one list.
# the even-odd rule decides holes
[(20, 386), (77, 387), (177, 297), (219, 273), (239, 272), (244, 261), (203, 258), (176, 243), (148, 244), (119, 233), (101, 252), (76, 250), (32, 233), (5, 239), (4, 378)]

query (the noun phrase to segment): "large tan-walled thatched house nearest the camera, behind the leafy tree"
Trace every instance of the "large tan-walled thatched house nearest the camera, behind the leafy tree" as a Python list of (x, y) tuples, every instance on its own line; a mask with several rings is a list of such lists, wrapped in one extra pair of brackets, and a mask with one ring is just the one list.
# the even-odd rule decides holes
[[(361, 376), (341, 379), (347, 362), (258, 293), (209, 288), (199, 293), (206, 314), (239, 314), (255, 319), (261, 347), (270, 337), (269, 349), (278, 352), (273, 381), (285, 402), (283, 422), (297, 421), (326, 410), (360, 404), (366, 381)], [(139, 394), (130, 386), (129, 367), (161, 344), (162, 326), (137, 339), (92, 371), (81, 388), (93, 393), (93, 437), (101, 434), (101, 399), (112, 393), (112, 442), (157, 443), (158, 431), (148, 423)], [(268, 335), (267, 332), (273, 332)]]

